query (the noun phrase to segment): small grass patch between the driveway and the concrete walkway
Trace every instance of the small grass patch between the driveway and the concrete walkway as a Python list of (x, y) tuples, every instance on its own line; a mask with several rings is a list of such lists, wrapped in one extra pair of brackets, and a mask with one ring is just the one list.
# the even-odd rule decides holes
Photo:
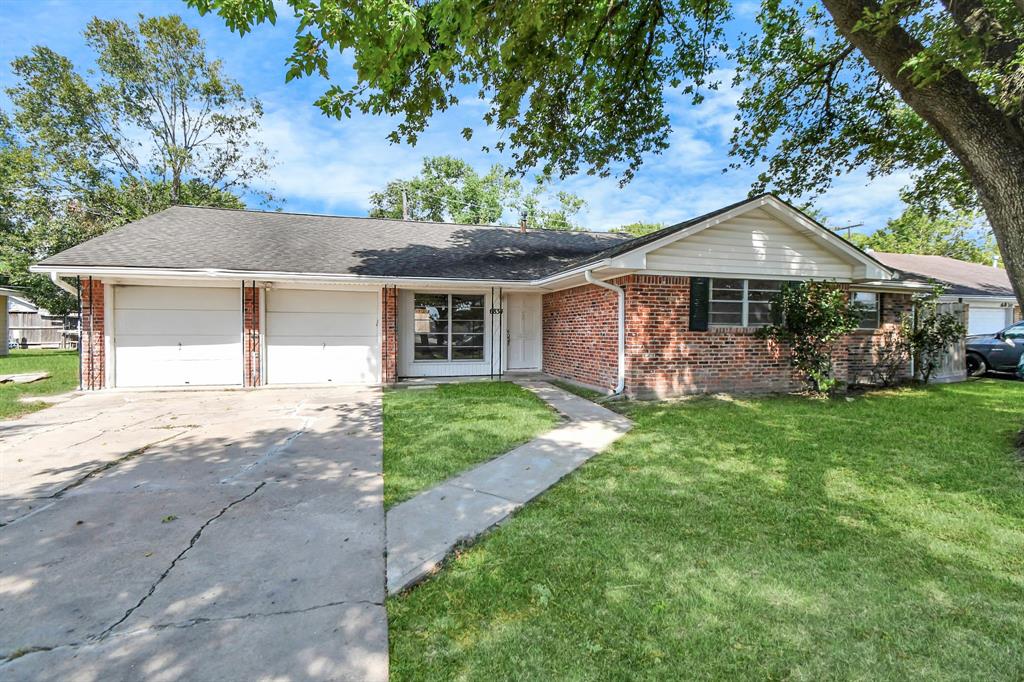
[(501, 455), (554, 427), (539, 397), (506, 382), (384, 393), (384, 506)]

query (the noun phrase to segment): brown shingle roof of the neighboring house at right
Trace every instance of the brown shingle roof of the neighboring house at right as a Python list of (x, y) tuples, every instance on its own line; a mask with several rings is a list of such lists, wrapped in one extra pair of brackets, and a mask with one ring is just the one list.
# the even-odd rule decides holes
[(899, 270), (902, 278), (918, 282), (936, 281), (954, 296), (1013, 296), (1006, 270), (969, 263), (946, 256), (919, 256), (906, 253), (872, 252), (884, 265)]

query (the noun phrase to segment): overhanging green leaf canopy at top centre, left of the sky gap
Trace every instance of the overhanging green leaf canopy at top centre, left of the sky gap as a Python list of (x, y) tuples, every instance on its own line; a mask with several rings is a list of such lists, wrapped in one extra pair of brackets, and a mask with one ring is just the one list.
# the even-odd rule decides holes
[[(265, 3), (190, 0), (236, 31), (259, 24)], [(668, 147), (665, 84), (702, 85), (719, 65), (729, 5), (723, 0), (485, 7), (469, 0), (289, 0), (300, 17), (287, 78), (326, 76), (340, 52), (354, 84), (317, 99), (328, 116), (352, 109), (395, 117), (392, 140), (415, 143), (434, 115), (472, 85), (482, 116), (513, 152), (514, 170), (632, 177), (645, 155)], [(692, 91), (699, 98), (699, 93)]]

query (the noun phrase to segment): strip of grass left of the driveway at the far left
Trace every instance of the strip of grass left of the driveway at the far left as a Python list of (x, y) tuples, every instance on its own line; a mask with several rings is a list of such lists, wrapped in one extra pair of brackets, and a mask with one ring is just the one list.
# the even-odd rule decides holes
[(24, 395), (52, 395), (78, 388), (77, 350), (11, 350), (0, 356), (0, 374), (49, 372), (50, 377), (32, 384), (0, 384), (0, 419), (10, 419), (42, 410), (45, 402), (19, 402)]

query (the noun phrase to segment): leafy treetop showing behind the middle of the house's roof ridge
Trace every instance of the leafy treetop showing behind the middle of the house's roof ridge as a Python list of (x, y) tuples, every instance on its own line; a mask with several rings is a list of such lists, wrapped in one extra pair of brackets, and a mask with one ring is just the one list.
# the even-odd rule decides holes
[(378, 218), (494, 224), (519, 220), (528, 227), (580, 229), (583, 199), (567, 191), (551, 194), (545, 178), (526, 188), (505, 168), (478, 173), (455, 157), (426, 157), (420, 172), (391, 180), (370, 196), (370, 215)]

